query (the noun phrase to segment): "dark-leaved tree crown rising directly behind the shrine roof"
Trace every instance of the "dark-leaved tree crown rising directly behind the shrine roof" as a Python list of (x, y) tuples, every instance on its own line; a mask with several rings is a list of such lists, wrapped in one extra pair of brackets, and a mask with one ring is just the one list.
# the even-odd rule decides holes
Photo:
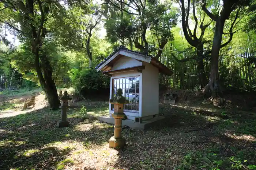
[[(132, 49), (134, 42), (140, 51), (157, 54), (166, 41), (173, 39), (171, 29), (177, 25), (178, 10), (170, 1), (148, 0), (135, 4), (131, 0), (124, 3), (118, 0), (106, 1), (103, 5), (106, 36), (112, 43)], [(155, 40), (148, 44), (153, 36)]]

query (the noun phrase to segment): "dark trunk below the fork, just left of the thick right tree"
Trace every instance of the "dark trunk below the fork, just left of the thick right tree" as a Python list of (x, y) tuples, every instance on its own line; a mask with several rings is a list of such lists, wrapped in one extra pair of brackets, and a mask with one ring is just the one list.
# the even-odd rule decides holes
[(196, 54), (197, 54), (197, 74), (199, 77), (199, 83), (201, 85), (201, 88), (206, 86), (207, 79), (206, 79), (206, 73), (204, 71), (204, 57), (203, 57), (203, 44), (200, 44), (196, 48)]

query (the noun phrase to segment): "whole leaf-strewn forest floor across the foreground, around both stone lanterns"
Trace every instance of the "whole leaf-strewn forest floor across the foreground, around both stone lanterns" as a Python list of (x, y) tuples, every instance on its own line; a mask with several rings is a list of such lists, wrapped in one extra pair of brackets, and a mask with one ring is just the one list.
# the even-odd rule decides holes
[[(97, 104), (92, 104), (90, 109), (97, 110), (96, 106)], [(118, 150), (114, 155), (109, 154), (112, 149), (107, 147), (107, 142), (113, 135), (113, 125), (97, 124), (95, 119), (86, 119), (82, 122), (76, 116), (69, 116), (71, 126), (57, 128), (60, 110), (52, 111), (47, 108), (10, 118), (0, 118), (0, 159), (3, 160), (0, 167), (56, 169), (57, 165), (65, 162), (70, 164), (69, 167), (65, 167), (69, 170), (81, 169), (78, 168), (78, 164), (82, 164), (80, 167), (86, 170), (164, 170), (175, 167), (196, 169), (195, 167), (200, 166), (214, 169), (218, 166), (214, 162), (223, 160), (224, 163), (219, 165), (222, 166), (220, 169), (231, 169), (231, 165), (238, 159), (242, 162), (241, 167), (256, 163), (255, 114), (205, 114), (203, 111), (172, 108), (169, 105), (162, 105), (160, 110), (165, 119), (158, 126), (148, 130), (123, 129), (127, 147)], [(69, 114), (73, 114), (73, 111), (69, 110)], [(51, 146), (51, 143), (68, 141), (82, 143), (89, 149), (100, 146), (100, 150), (102, 146), (104, 152), (99, 153), (102, 158), (98, 159), (99, 155), (95, 153), (87, 153), (93, 149), (86, 150), (78, 155), (76, 164), (66, 159), (72, 157), (72, 147)], [(88, 165), (85, 159), (79, 159), (84, 153), (87, 153), (89, 159), (94, 159), (93, 164)], [(234, 158), (231, 160), (232, 156)], [(106, 162), (107, 158), (112, 162)], [(209, 159), (211, 163), (205, 159)]]

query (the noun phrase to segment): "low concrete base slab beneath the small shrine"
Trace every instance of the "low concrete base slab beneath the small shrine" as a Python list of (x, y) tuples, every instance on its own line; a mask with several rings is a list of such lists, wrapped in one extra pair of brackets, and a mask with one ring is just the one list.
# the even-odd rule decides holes
[[(159, 116), (156, 118), (152, 118), (152, 119), (148, 119), (148, 120), (144, 120), (142, 121), (142, 123), (135, 123), (134, 120), (122, 120), (122, 126), (128, 126), (131, 129), (140, 129), (140, 130), (144, 130), (147, 129), (149, 127), (152, 127), (158, 123), (161, 122), (162, 119), (164, 119), (165, 117), (163, 116)], [(110, 117), (110, 116), (100, 116), (99, 121), (102, 122), (106, 122), (106, 123), (111, 123), (114, 124), (114, 118)]]

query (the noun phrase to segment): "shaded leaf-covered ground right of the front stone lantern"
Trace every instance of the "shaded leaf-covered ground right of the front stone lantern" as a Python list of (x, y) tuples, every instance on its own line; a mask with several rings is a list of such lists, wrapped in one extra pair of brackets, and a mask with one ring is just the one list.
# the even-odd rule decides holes
[(256, 164), (255, 114), (231, 112), (218, 116), (189, 108), (162, 107), (169, 111), (158, 126), (146, 131), (123, 131), (127, 147), (119, 150), (115, 168), (248, 169)]

